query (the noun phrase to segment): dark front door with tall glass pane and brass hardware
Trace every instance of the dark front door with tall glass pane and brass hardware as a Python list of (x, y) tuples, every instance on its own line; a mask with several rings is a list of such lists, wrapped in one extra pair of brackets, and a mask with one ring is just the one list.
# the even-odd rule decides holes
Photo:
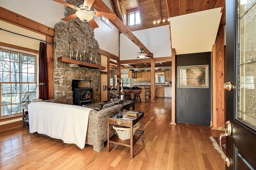
[(226, 0), (226, 169), (256, 169), (255, 3)]

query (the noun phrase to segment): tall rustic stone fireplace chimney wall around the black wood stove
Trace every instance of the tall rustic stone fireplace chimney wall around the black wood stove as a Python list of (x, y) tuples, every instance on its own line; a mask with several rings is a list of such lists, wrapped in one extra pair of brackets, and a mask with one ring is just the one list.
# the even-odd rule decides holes
[[(76, 5), (77, 1), (67, 1)], [(66, 7), (68, 10), (68, 7)], [(69, 9), (70, 10), (70, 9)], [(74, 12), (73, 12), (74, 11)], [(76, 10), (71, 8), (66, 11), (65, 16), (74, 14)], [(60, 21), (54, 26), (54, 98), (63, 104), (73, 104), (72, 80), (92, 80), (94, 102), (100, 101), (100, 69), (81, 67), (77, 64), (67, 64), (58, 62), (58, 57), (70, 58), (73, 50), (73, 59), (76, 59), (78, 50), (78, 60), (80, 54), (84, 56), (84, 41), (86, 41), (85, 56), (87, 60), (92, 56), (93, 61), (100, 65), (100, 48), (94, 39), (94, 31), (89, 23), (83, 22), (78, 18), (70, 21)]]

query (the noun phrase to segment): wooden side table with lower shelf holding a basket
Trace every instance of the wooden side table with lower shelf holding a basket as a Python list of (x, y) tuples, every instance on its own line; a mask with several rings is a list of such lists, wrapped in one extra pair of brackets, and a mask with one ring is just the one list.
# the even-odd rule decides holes
[[(118, 115), (118, 114), (117, 114)], [(114, 143), (117, 145), (122, 145), (125, 147), (130, 147), (130, 158), (133, 158), (133, 146), (134, 144), (138, 141), (138, 139), (140, 139), (140, 137), (142, 136), (142, 141), (144, 141), (144, 112), (140, 111), (138, 113), (137, 117), (131, 117), (131, 116), (127, 116), (127, 111), (123, 111), (122, 118), (117, 118), (114, 115), (113, 117), (108, 117), (108, 123), (107, 123), (107, 127), (108, 127), (108, 152), (110, 152), (110, 143)], [(137, 129), (136, 132), (133, 135), (133, 126), (138, 122), (142, 120), (142, 128), (141, 129)], [(127, 140), (121, 140), (118, 138), (118, 135), (114, 135), (113, 137), (110, 137), (110, 133), (109, 133), (109, 128), (110, 128), (110, 124), (112, 125), (121, 125), (121, 126), (125, 126), (125, 127), (130, 127), (130, 139)]]

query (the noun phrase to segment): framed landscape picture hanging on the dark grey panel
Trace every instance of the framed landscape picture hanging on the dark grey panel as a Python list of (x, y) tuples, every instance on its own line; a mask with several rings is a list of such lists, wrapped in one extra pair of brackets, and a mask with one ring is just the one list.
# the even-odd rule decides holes
[(178, 66), (178, 88), (209, 88), (209, 65)]

